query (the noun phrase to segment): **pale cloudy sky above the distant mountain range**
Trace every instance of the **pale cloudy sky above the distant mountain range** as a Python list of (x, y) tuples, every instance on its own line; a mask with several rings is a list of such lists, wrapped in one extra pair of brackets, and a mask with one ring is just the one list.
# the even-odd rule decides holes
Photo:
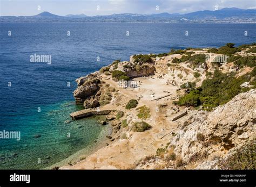
[(222, 8), (256, 9), (255, 0), (0, 0), (0, 16), (33, 16), (43, 11), (65, 16), (113, 13), (188, 13)]

